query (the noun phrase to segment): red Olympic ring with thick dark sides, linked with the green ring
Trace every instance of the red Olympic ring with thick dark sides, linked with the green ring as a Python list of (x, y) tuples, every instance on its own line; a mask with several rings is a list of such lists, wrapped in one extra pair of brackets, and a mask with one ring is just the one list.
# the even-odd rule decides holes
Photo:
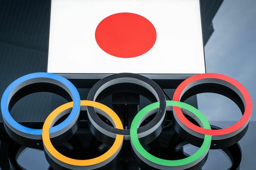
[[(232, 99), (241, 109), (243, 113), (242, 118), (228, 128), (216, 130), (204, 129), (191, 123), (183, 115), (180, 108), (174, 107), (175, 121), (188, 133), (194, 135), (195, 138), (190, 138), (191, 142), (198, 141), (200, 138), (202, 139), (203, 134), (213, 135), (212, 140), (214, 142), (212, 144), (214, 146), (212, 145), (211, 149), (228, 147), (238, 142), (247, 131), (249, 119), (252, 114), (252, 100), (248, 91), (233, 78), (216, 73), (205, 73), (192, 76), (183, 81), (175, 90), (173, 100), (183, 101), (189, 96), (203, 92), (219, 93)], [(197, 145), (197, 143), (193, 144)]]

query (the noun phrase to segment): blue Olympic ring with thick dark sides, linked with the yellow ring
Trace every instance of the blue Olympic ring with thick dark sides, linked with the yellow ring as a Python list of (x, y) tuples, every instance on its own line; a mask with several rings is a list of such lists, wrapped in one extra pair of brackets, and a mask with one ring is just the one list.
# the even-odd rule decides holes
[[(70, 81), (53, 73), (27, 74), (13, 81), (7, 87), (1, 99), (1, 111), (4, 120), (4, 127), (9, 136), (16, 142), (20, 143), (21, 145), (37, 148), (42, 147), (42, 145), (40, 145), (42, 142), (42, 129), (31, 129), (20, 125), (11, 117), (8, 110), (9, 103), (11, 102), (12, 97), (15, 96), (15, 93), (19, 93), (19, 90), (22, 90), (26, 86), (30, 86), (35, 83), (56, 84), (65, 89), (74, 101), (70, 115), (59, 125), (50, 129), (51, 138), (58, 138), (65, 133), (64, 139), (68, 139), (73, 135), (72, 132), (76, 131), (78, 128), (77, 124), (79, 123), (80, 97), (77, 89)], [(50, 90), (46, 89), (46, 91)]]

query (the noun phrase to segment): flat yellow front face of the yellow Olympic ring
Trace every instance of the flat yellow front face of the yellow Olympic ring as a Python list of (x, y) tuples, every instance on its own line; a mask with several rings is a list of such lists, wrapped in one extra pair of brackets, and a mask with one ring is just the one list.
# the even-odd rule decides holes
[[(59, 153), (52, 145), (50, 141), (50, 134), (49, 134), (50, 127), (53, 126), (54, 121), (57, 121), (55, 119), (59, 118), (61, 113), (63, 113), (67, 109), (72, 108), (72, 106), (73, 106), (73, 102), (63, 104), (59, 106), (57, 109), (55, 109), (53, 112), (51, 112), (51, 114), (46, 118), (46, 121), (43, 124), (43, 131), (42, 131), (44, 149), (46, 149), (46, 151), (48, 151), (53, 157), (55, 157), (59, 161), (67, 163), (69, 165), (74, 165), (74, 166), (90, 166), (90, 165), (96, 165), (98, 163), (106, 161), (112, 155), (114, 155), (122, 146), (123, 137), (124, 137), (123, 135), (116, 134), (115, 142), (113, 143), (112, 147), (110, 147), (110, 149), (106, 151), (106, 153), (100, 155), (99, 157), (86, 159), (86, 160), (72, 159), (72, 158), (66, 157), (61, 153)], [(81, 100), (81, 106), (93, 106), (95, 108), (102, 110), (112, 118), (113, 122), (115, 123), (114, 126), (116, 126), (116, 128), (123, 129), (123, 124), (120, 118), (108, 106), (105, 106), (95, 101), (88, 101), (88, 100)]]

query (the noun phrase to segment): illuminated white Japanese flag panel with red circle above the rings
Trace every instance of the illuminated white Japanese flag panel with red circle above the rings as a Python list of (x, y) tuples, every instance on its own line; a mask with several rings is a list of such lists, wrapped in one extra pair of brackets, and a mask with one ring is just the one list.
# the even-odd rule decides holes
[(51, 73), (205, 73), (199, 0), (52, 0)]

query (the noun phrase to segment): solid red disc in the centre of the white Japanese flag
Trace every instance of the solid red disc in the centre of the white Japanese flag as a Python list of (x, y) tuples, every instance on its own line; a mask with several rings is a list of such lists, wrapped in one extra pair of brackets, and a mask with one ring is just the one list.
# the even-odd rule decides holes
[(116, 13), (103, 19), (95, 31), (97, 44), (106, 53), (121, 58), (140, 56), (156, 42), (156, 29), (135, 13)]

